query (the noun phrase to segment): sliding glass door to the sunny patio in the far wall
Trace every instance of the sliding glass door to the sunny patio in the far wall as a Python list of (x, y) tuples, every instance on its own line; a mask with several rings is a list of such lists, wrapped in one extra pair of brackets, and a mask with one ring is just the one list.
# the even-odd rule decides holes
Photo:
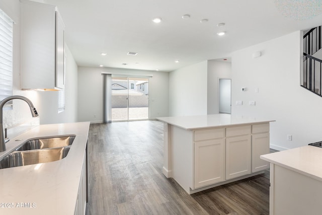
[(148, 119), (148, 79), (112, 77), (112, 121)]

